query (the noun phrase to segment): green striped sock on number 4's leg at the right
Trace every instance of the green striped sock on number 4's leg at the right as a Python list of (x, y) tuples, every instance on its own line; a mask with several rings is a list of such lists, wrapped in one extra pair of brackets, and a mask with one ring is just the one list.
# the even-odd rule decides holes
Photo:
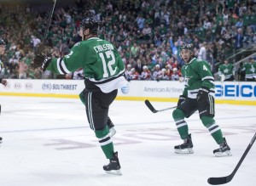
[(224, 142), (223, 134), (220, 127), (215, 123), (215, 120), (210, 116), (202, 116), (201, 121), (208, 131), (211, 133), (212, 138), (216, 141), (217, 144)]

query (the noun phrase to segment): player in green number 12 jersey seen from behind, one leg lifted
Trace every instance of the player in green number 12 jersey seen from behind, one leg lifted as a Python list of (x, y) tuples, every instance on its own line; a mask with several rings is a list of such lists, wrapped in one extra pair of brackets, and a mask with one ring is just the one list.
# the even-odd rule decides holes
[(107, 123), (109, 106), (116, 98), (118, 88), (122, 93), (129, 92), (129, 84), (124, 77), (125, 65), (113, 44), (98, 37), (100, 23), (94, 17), (83, 19), (79, 29), (82, 42), (76, 43), (69, 54), (58, 59), (38, 55), (34, 63), (56, 74), (83, 68), (85, 88), (80, 97), (85, 98), (90, 128), (96, 133), (103, 153), (110, 161), (103, 169), (107, 173), (121, 175), (118, 153), (113, 150)]

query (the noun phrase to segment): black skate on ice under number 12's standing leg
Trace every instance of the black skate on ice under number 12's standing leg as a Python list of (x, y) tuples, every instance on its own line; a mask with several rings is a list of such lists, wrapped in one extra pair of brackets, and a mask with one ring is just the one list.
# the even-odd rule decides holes
[(119, 164), (119, 157), (118, 157), (118, 152), (115, 152), (113, 154), (113, 158), (109, 160), (109, 164), (103, 166), (103, 169), (105, 172), (108, 174), (113, 174), (113, 175), (118, 175), (121, 176), (121, 166)]

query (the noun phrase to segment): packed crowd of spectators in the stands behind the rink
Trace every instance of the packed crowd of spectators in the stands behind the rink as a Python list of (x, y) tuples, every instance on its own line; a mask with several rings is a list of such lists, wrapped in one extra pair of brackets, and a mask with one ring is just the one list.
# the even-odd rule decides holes
[(0, 37), (7, 43), (0, 57), (3, 78), (83, 79), (83, 71), (54, 76), (32, 67), (36, 54), (63, 57), (79, 41), (84, 14), (101, 21), (100, 37), (113, 42), (128, 80), (171, 80), (181, 76), (179, 48), (193, 43), (195, 57), (216, 64), (256, 44), (255, 0), (77, 0), (57, 4), (43, 42), (49, 8), (0, 3)]

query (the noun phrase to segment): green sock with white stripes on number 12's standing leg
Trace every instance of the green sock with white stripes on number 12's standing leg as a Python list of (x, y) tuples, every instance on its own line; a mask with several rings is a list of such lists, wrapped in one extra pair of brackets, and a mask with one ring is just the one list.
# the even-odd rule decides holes
[(108, 135), (109, 129), (106, 126), (103, 130), (96, 130), (96, 138), (99, 139), (99, 143), (102, 147), (103, 153), (108, 159), (113, 158), (113, 142), (112, 138)]

